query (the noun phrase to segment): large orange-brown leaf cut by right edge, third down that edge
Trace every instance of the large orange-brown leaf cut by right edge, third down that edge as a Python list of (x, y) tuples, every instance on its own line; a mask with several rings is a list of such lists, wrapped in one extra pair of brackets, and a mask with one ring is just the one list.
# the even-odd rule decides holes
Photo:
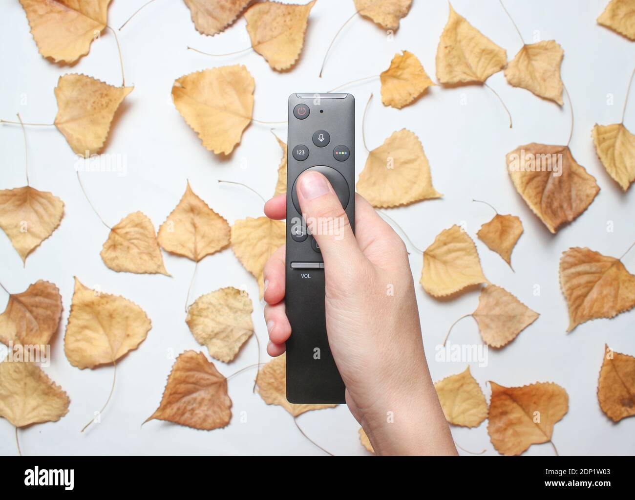
[(597, 318), (635, 307), (635, 276), (614, 257), (589, 248), (569, 248), (560, 259), (560, 287), (569, 307), (567, 332)]

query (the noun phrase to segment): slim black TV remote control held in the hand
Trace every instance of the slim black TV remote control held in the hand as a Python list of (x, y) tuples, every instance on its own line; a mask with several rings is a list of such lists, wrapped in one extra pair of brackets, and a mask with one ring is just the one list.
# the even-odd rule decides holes
[(344, 403), (345, 386), (326, 336), (324, 262), (302, 217), (296, 181), (317, 170), (335, 189), (354, 230), (355, 98), (347, 93), (289, 97), (286, 170), (286, 398), (290, 403)]

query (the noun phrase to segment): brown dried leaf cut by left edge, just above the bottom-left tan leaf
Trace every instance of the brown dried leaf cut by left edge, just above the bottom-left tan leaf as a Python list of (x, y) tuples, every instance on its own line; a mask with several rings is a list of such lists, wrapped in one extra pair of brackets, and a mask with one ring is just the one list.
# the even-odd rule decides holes
[(62, 315), (60, 290), (39, 280), (21, 294), (11, 294), (0, 314), (0, 342), (23, 346), (46, 346), (57, 332)]

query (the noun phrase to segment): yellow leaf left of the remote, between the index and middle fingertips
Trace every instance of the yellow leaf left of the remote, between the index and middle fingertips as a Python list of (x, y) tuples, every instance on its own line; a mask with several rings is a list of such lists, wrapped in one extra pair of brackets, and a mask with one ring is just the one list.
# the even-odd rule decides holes
[(236, 220), (232, 226), (231, 245), (243, 267), (258, 280), (260, 299), (264, 295), (265, 262), (284, 245), (286, 226), (269, 217)]

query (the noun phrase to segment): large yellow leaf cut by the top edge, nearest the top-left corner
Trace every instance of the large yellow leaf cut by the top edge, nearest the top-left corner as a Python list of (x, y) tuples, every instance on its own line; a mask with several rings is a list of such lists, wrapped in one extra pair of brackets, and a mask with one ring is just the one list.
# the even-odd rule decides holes
[(108, 24), (110, 0), (20, 0), (43, 57), (75, 62)]

